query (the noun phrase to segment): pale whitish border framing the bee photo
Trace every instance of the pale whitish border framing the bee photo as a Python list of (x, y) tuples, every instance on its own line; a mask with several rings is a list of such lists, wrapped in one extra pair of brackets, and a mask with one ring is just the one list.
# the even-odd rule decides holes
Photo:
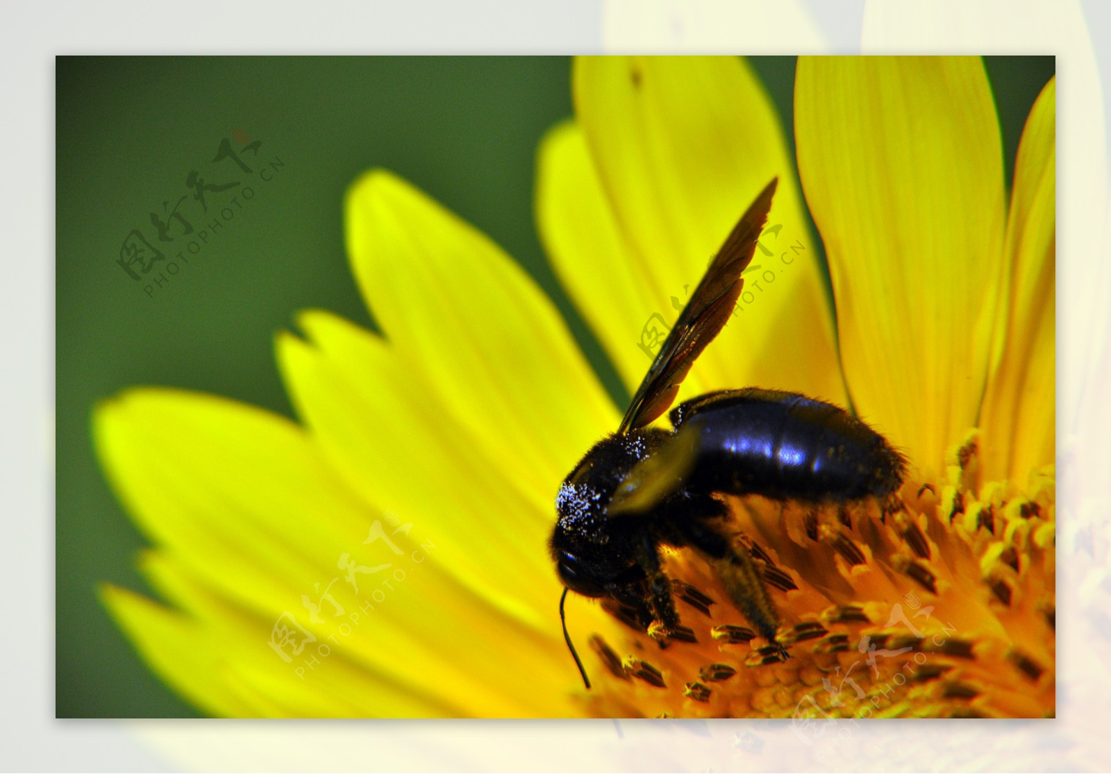
[[(765, 7), (767, 6), (767, 7)], [(908, 18), (905, 14), (913, 14)], [(142, 20), (141, 22), (137, 20)], [(261, 30), (244, 43), (238, 30)], [(157, 32), (157, 34), (156, 34)], [(7, 602), (0, 767), (22, 771), (1107, 771), (1109, 664), (1090, 647), (1092, 586), (1070, 535), (1105, 562), (1111, 458), (1111, 230), (1104, 88), (1111, 6), (1089, 2), (286, 2), (6, 4), (0, 213), (0, 476)], [(154, 50), (149, 41), (158, 40)], [(1052, 53), (1059, 154), (1059, 714), (1055, 721), (857, 724), (819, 760), (788, 724), (217, 722), (53, 718), (53, 158), (56, 54)], [(1078, 462), (1079, 461), (1079, 462)], [(1093, 464), (1094, 461), (1094, 464)], [(1107, 464), (1103, 464), (1107, 463)], [(1097, 555), (1099, 559), (1099, 554)], [(1090, 560), (1088, 560), (1090, 561)], [(1103, 617), (1102, 620), (1107, 620)], [(1103, 636), (1109, 636), (1103, 633)], [(1103, 643), (1103, 653), (1108, 652)], [(1055, 753), (1054, 753), (1055, 754)]]

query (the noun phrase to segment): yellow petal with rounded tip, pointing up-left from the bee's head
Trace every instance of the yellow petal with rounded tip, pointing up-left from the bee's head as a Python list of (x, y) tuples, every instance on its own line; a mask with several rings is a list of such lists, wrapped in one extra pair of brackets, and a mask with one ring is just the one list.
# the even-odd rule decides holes
[(388, 172), (351, 187), (346, 221), (363, 298), (434, 386), (429, 400), (500, 439), (554, 496), (615, 411), (551, 301), (484, 234)]

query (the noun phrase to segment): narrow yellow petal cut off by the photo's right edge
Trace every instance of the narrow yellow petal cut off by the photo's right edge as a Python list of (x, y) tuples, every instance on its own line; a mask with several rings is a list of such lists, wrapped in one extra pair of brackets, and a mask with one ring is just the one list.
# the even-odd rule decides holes
[(1025, 483), (1053, 462), (1057, 332), (1057, 79), (1022, 131), (1007, 224), (1009, 294), (1000, 361), (984, 395), (983, 474)]

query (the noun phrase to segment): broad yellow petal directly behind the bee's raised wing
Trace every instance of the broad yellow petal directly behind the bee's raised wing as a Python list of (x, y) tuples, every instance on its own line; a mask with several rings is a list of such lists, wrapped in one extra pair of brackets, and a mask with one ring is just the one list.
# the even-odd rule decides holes
[[(830, 308), (793, 162), (771, 100), (748, 64), (735, 58), (584, 58), (575, 62), (573, 89), (617, 231), (638, 264), (635, 273), (647, 278), (650, 313), (667, 324), (737, 219), (772, 177), (780, 178), (764, 249), (745, 274), (738, 311), (699, 359), (683, 394), (759, 384), (843, 403)], [(589, 190), (591, 181), (580, 177), (575, 181), (568, 173), (561, 184), (572, 192)], [(572, 201), (573, 193), (560, 199)], [(565, 213), (549, 225), (574, 227)], [(594, 255), (553, 258), (585, 262)], [(589, 282), (587, 270), (560, 273), (587, 278), (569, 287), (582, 305), (597, 292), (581, 287)], [(609, 345), (634, 349), (652, 320), (638, 322)], [(644, 370), (649, 362), (644, 358)]]

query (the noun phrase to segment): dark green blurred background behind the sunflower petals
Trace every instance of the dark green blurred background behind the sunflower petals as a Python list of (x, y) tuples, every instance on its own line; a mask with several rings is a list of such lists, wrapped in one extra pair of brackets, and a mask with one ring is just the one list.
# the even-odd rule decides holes
[[(791, 123), (794, 59), (753, 64)], [(988, 58), (1010, 180), (1025, 115), (1052, 57)], [(321, 306), (371, 325), (343, 254), (341, 201), (363, 170), (411, 180), (516, 257), (551, 294), (615, 400), (612, 368), (543, 257), (532, 215), (537, 142), (571, 115), (565, 58), (102, 58), (57, 60), (57, 631), (59, 717), (193, 717), (109, 620), (97, 584), (150, 593), (146, 545), (100, 473), (90, 410), (136, 384), (219, 393), (291, 415), (276, 330)], [(258, 155), (213, 162), (221, 139)], [(258, 180), (263, 161), (284, 165)], [(163, 287), (117, 265), (132, 229), (191, 194), (186, 178), (240, 180), (256, 195)], [(250, 179), (250, 180), (249, 180)], [(236, 190), (191, 198), (199, 232)], [(169, 202), (163, 210), (163, 202)], [(163, 252), (180, 238), (170, 220)], [(176, 247), (182, 245), (182, 247)]]

